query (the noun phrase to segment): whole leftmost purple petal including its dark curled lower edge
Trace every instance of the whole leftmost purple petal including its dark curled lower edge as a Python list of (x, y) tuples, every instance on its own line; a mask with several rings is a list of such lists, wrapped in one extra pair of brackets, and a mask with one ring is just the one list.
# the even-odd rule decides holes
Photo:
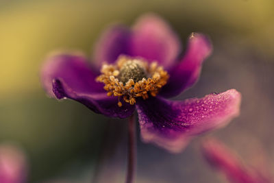
[(134, 106), (127, 103), (119, 108), (117, 97), (107, 96), (103, 84), (95, 81), (96, 75), (82, 56), (51, 56), (42, 67), (41, 75), (42, 84), (51, 97), (79, 101), (108, 117), (125, 118), (134, 111)]

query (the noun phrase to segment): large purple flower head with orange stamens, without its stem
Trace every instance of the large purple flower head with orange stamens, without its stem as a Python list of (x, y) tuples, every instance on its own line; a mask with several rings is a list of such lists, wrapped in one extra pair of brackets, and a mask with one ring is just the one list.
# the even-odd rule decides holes
[(241, 98), (232, 89), (201, 99), (168, 100), (197, 82), (212, 51), (208, 38), (196, 33), (182, 58), (181, 47), (166, 22), (147, 14), (132, 29), (107, 29), (92, 63), (79, 53), (49, 56), (42, 66), (42, 84), (51, 97), (79, 101), (107, 117), (126, 118), (136, 109), (142, 140), (179, 152), (193, 136), (236, 117)]

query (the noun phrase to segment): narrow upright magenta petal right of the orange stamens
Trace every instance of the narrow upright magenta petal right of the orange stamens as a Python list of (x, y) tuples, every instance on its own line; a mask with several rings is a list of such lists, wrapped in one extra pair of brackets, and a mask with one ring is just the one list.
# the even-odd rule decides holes
[(169, 72), (169, 82), (162, 88), (160, 95), (174, 97), (195, 84), (199, 78), (203, 61), (210, 56), (211, 51), (212, 45), (206, 36), (192, 34), (182, 61)]

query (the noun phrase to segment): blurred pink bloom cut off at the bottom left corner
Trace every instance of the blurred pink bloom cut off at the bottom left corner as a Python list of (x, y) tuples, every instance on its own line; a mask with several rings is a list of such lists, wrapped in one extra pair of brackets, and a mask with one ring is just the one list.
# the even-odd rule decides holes
[(27, 178), (25, 154), (12, 145), (0, 146), (0, 182), (23, 183)]

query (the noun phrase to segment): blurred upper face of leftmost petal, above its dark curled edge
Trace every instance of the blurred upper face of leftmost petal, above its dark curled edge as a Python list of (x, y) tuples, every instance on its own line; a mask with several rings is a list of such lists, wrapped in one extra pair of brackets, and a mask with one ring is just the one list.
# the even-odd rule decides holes
[(95, 81), (96, 76), (86, 58), (79, 53), (60, 53), (49, 56), (41, 71), (42, 84), (51, 97), (54, 97), (52, 81), (57, 77), (62, 78), (75, 92), (103, 92), (103, 85)]

